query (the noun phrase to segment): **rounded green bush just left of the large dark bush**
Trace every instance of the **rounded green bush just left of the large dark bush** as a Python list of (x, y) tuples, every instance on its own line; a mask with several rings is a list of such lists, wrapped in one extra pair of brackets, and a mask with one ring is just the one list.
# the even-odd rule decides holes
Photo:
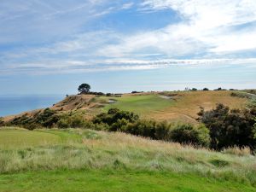
[(176, 125), (170, 132), (172, 142), (192, 144), (194, 146), (208, 147), (210, 136), (204, 125), (193, 126), (189, 124)]

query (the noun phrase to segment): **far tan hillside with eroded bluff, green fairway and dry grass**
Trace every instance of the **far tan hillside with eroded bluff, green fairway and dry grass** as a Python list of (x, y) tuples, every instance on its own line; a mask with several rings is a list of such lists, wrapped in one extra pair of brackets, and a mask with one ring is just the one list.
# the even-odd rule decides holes
[[(146, 92), (141, 94), (124, 94), (121, 97), (78, 95), (68, 96), (56, 103), (51, 109), (58, 113), (82, 112), (86, 119), (109, 108), (119, 108), (138, 113), (144, 119), (183, 121), (196, 123), (200, 107), (212, 109), (217, 103), (230, 108), (243, 108), (247, 104), (246, 97), (231, 96), (233, 91), (172, 91)], [(28, 116), (40, 110), (26, 112)], [(21, 114), (20, 114), (21, 115)], [(20, 116), (18, 115), (18, 116)], [(6, 117), (5, 120), (15, 116)]]

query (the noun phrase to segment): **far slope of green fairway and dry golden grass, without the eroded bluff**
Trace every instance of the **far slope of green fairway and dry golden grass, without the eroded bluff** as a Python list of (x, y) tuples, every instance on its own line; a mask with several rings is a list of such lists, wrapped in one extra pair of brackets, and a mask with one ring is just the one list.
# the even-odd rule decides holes
[(200, 107), (209, 110), (217, 103), (224, 103), (230, 108), (242, 108), (247, 102), (246, 98), (230, 96), (231, 91), (179, 91), (166, 92), (166, 95), (173, 93), (177, 94), (175, 101), (157, 95), (115, 98), (118, 102), (107, 105), (104, 110), (114, 107), (139, 113), (146, 119), (196, 123)]

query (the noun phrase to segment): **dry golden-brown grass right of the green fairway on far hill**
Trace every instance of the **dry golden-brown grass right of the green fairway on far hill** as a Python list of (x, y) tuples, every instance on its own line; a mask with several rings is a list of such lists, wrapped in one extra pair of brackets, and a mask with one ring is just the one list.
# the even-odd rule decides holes
[[(175, 105), (164, 108), (161, 111), (150, 113), (145, 118), (196, 123), (195, 119), (198, 118), (197, 113), (200, 111), (200, 107), (210, 110), (214, 108), (217, 103), (223, 103), (230, 108), (243, 108), (247, 103), (246, 98), (230, 96), (231, 91), (229, 90), (181, 91), (175, 93), (177, 94), (177, 102)], [(171, 94), (173, 94), (173, 92), (171, 92)]]

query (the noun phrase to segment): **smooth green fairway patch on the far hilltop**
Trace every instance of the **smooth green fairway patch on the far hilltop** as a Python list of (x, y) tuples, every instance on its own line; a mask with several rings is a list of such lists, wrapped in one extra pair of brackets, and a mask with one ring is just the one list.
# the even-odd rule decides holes
[(148, 96), (123, 96), (114, 97), (116, 103), (108, 104), (104, 109), (119, 108), (138, 114), (152, 113), (164, 108), (171, 107), (175, 102), (172, 99), (164, 99), (157, 95)]

